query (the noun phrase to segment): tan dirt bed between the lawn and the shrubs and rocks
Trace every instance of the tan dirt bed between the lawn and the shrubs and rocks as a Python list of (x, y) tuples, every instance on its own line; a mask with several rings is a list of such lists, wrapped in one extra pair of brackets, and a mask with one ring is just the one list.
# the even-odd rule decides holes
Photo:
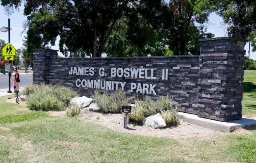
[[(7, 99), (7, 102), (16, 103), (16, 99)], [(19, 104), (26, 106), (26, 102), (21, 100)], [(48, 113), (52, 116), (66, 116), (66, 111), (50, 111)], [(128, 129), (125, 129), (123, 128), (123, 114), (104, 114), (101, 112), (92, 112), (87, 110), (86, 108), (81, 109), (81, 114), (78, 116), (78, 118), (85, 122), (91, 122), (102, 126), (106, 126), (112, 130), (119, 132), (143, 136), (168, 137), (175, 139), (196, 138), (203, 140), (211, 140), (218, 135), (249, 133), (248, 130), (243, 128), (237, 128), (232, 133), (223, 133), (216, 130), (202, 128), (198, 125), (194, 125), (191, 123), (183, 122), (182, 119), (180, 119), (180, 123), (177, 126), (168, 126), (165, 128), (154, 129), (143, 125), (133, 125), (129, 123)]]

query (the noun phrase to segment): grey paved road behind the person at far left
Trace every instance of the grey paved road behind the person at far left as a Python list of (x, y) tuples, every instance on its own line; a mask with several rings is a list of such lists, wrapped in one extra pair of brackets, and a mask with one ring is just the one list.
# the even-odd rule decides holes
[[(21, 82), (19, 83), (19, 87), (23, 88), (27, 84), (32, 84), (33, 83), (33, 74), (32, 73), (19, 73), (19, 78)], [(12, 78), (14, 78), (14, 73), (12, 73)], [(11, 91), (13, 91), (13, 86), (12, 86), (12, 80), (11, 80)], [(8, 74), (0, 75), (0, 92), (2, 91), (8, 91), (9, 90), (9, 77)]]

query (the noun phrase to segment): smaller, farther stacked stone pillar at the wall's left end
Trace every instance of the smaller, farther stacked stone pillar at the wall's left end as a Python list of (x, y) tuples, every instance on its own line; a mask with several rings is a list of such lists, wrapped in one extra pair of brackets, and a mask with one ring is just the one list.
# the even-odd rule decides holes
[(48, 83), (50, 58), (57, 57), (58, 50), (33, 49), (33, 82)]

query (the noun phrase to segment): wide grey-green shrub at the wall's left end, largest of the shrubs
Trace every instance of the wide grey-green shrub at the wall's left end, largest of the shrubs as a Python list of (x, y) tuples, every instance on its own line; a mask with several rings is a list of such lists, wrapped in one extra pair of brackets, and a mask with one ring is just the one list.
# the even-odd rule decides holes
[(61, 84), (32, 84), (23, 91), (27, 94), (26, 103), (31, 110), (61, 111), (65, 110), (72, 98), (79, 96), (71, 88)]

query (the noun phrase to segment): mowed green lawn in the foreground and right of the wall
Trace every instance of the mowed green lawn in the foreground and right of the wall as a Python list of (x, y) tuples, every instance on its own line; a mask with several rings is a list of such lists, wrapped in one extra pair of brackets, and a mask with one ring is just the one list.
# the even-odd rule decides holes
[[(245, 82), (249, 80), (247, 74), (251, 75), (251, 71), (245, 72)], [(243, 100), (243, 109), (244, 105), (254, 105), (254, 100), (249, 99), (253, 96), (245, 96), (248, 100)], [(30, 111), (6, 99), (0, 98), (1, 163), (256, 162), (255, 126), (239, 134), (209, 139), (149, 137), (116, 132), (76, 117)], [(249, 109), (251, 116), (256, 115), (251, 107), (246, 112)]]

